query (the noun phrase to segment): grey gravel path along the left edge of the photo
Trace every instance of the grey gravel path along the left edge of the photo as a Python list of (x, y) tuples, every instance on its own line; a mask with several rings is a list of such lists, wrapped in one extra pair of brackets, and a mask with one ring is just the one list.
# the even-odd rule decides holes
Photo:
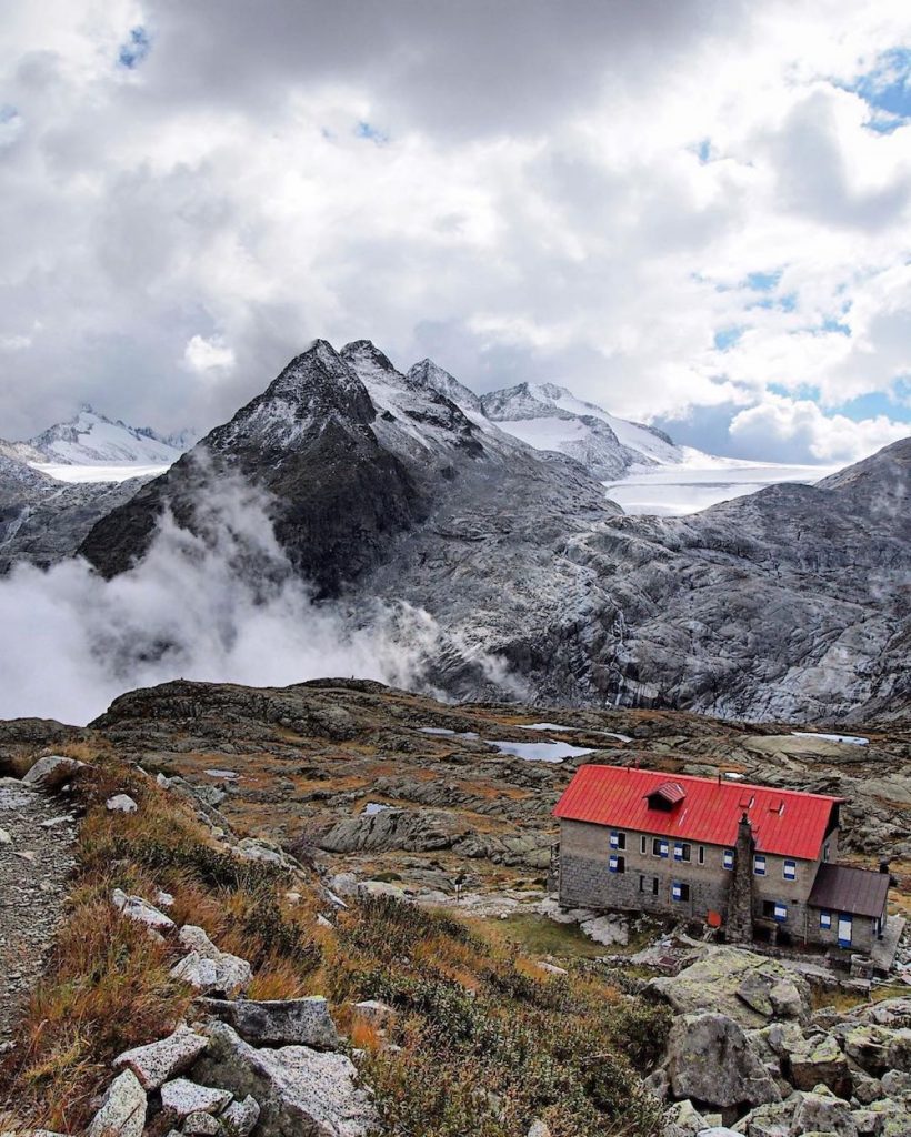
[(0, 778), (0, 1049), (53, 940), (74, 837), (65, 802)]

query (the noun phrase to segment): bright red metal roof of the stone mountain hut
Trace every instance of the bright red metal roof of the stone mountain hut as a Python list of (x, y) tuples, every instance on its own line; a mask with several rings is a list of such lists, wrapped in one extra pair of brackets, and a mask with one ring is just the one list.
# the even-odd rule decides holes
[(649, 794), (668, 785), (666, 773), (630, 766), (579, 769), (556, 804), (554, 815), (568, 821), (635, 829), (661, 837), (732, 847), (745, 812), (760, 853), (815, 861), (833, 806), (843, 798), (674, 774), (685, 791), (671, 811), (651, 810)]

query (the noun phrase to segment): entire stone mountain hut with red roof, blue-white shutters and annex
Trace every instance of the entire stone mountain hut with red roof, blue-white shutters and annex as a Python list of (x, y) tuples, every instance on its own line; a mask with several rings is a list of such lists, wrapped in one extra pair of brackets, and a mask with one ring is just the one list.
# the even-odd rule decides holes
[(728, 943), (868, 954), (888, 872), (837, 864), (842, 798), (583, 765), (556, 805), (560, 903), (703, 920)]

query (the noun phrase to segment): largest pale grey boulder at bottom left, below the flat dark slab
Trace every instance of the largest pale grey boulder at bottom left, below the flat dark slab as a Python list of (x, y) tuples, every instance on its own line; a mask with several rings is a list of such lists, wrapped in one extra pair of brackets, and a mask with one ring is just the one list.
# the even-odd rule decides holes
[(365, 1137), (379, 1129), (376, 1110), (343, 1054), (308, 1046), (255, 1049), (224, 1022), (206, 1032), (209, 1048), (193, 1076), (256, 1098), (260, 1137)]

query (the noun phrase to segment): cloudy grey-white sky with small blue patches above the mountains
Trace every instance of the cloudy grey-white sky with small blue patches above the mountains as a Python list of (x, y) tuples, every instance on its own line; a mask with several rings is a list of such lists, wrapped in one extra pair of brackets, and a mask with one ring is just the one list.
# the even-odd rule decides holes
[(11, 0), (0, 437), (308, 340), (715, 453), (911, 433), (911, 5)]

